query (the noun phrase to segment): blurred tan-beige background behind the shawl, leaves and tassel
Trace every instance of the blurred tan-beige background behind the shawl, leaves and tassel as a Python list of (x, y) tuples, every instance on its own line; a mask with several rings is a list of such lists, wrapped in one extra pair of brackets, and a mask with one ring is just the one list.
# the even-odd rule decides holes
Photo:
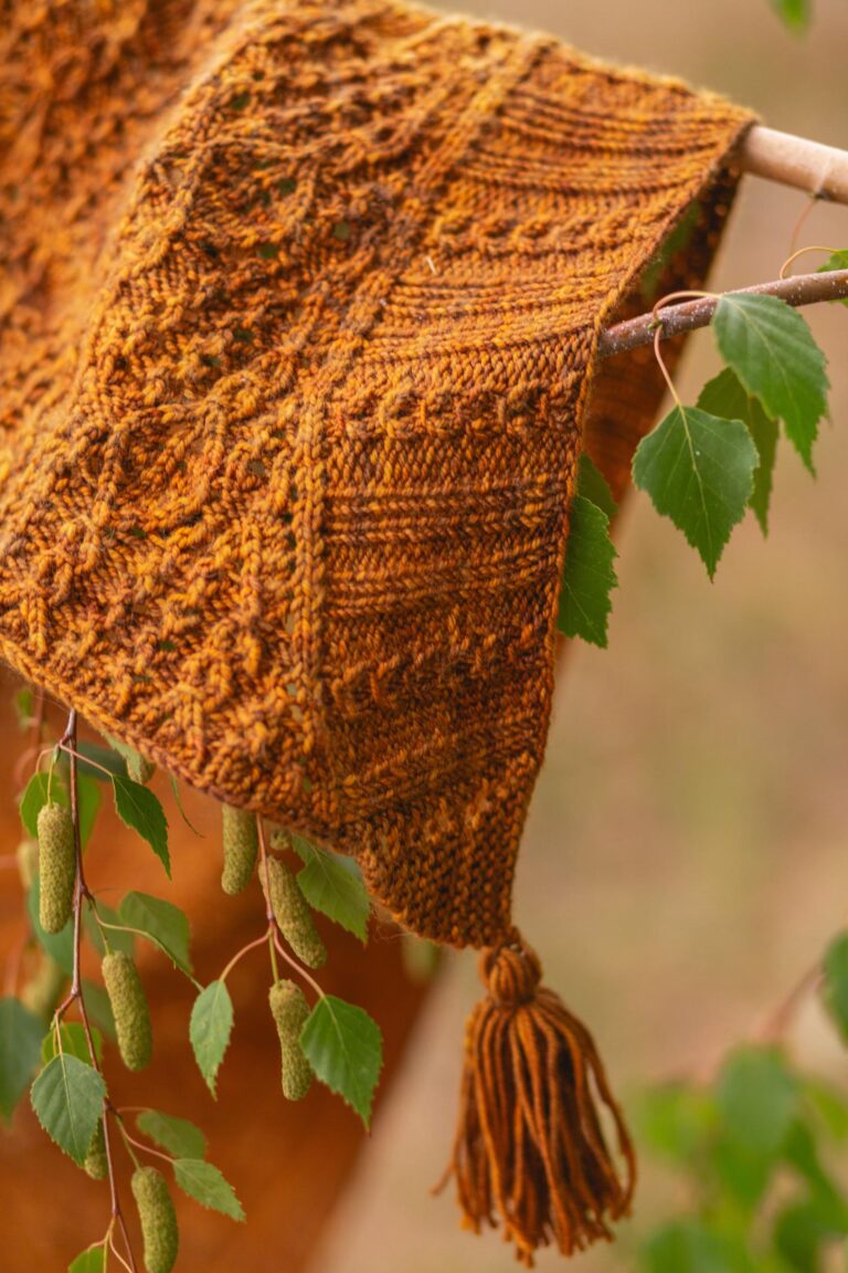
[[(845, 0), (816, 0), (804, 38), (768, 0), (463, 8), (679, 75), (772, 127), (848, 146)], [(713, 285), (776, 278), (806, 202), (746, 178)], [(800, 242), (848, 247), (848, 209), (816, 206)], [(631, 499), (609, 649), (568, 652), (519, 859), (516, 922), (549, 983), (591, 1022), (628, 1105), (646, 1085), (708, 1072), (848, 918), (848, 316), (820, 306), (806, 317), (833, 383), (819, 480), (784, 448), (768, 542), (749, 518), (715, 584), (646, 496)], [(701, 332), (678, 377), (684, 401), (715, 369)], [(474, 965), (470, 953), (450, 959), (310, 1273), (515, 1269), (497, 1235), (460, 1232), (449, 1193), (428, 1195), (453, 1134)], [(815, 1003), (792, 1044), (848, 1083)], [(643, 1155), (636, 1220), (575, 1267), (634, 1268), (639, 1235), (674, 1204), (673, 1181)]]

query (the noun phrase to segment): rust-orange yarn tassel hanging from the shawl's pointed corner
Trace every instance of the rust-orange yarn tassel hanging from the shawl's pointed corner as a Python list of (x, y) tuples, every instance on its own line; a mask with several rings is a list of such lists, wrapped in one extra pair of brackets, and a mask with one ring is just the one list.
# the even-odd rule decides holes
[[(453, 1161), (463, 1225), (497, 1227), (519, 1263), (556, 1242), (563, 1255), (610, 1240), (629, 1213), (633, 1146), (586, 1027), (539, 985), (535, 952), (514, 933), (483, 952), (486, 999), (468, 1021)], [(620, 1164), (601, 1128), (606, 1108)]]

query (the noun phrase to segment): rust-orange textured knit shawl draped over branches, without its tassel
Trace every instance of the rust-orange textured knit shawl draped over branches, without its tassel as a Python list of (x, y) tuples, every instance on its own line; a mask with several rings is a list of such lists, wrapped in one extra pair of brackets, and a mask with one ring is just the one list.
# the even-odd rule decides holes
[(6, 38), (5, 657), (496, 939), (598, 332), (704, 185), (715, 237), (749, 116), (381, 0), (15, 3)]

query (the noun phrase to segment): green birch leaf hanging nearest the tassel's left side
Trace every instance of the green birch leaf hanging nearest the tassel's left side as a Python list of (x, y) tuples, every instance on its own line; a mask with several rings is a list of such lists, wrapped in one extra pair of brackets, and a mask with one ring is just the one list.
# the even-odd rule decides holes
[(325, 994), (306, 1018), (300, 1046), (322, 1083), (342, 1096), (367, 1127), (383, 1067), (376, 1022), (362, 1008)]

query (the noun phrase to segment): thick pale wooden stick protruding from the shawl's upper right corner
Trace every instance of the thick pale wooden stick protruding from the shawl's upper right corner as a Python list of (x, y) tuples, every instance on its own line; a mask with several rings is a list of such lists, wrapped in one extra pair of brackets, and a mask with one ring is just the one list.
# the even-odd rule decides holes
[(754, 125), (740, 141), (736, 160), (754, 177), (848, 204), (848, 150)]

